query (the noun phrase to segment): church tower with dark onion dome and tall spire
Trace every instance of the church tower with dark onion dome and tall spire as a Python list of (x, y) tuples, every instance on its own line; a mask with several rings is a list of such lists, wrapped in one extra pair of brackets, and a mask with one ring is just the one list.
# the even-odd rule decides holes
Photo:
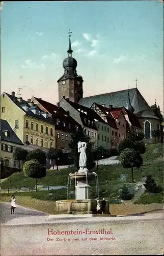
[(72, 57), (71, 33), (69, 30), (68, 57), (63, 60), (64, 74), (58, 80), (58, 97), (59, 102), (65, 96), (65, 98), (78, 103), (83, 98), (83, 77), (77, 75), (77, 61)]

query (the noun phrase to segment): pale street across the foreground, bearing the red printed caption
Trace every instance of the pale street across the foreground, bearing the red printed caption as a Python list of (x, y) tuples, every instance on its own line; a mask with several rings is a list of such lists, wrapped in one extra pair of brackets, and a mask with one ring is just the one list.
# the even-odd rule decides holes
[(5, 203), (1, 211), (3, 256), (162, 254), (162, 211), (133, 217), (55, 218), (18, 206), (11, 216)]

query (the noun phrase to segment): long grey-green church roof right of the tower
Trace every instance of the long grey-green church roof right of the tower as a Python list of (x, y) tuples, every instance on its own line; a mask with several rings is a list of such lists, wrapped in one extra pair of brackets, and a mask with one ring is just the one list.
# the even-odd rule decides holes
[[(96, 102), (101, 105), (104, 104), (106, 107), (108, 107), (109, 105), (113, 105), (114, 108), (126, 108), (128, 92), (131, 105), (134, 108), (134, 113), (138, 113), (143, 110), (149, 110), (149, 112), (151, 112), (151, 117), (156, 118), (150, 106), (148, 105), (148, 103), (143, 98), (143, 96), (141, 95), (137, 88), (85, 97), (80, 99), (78, 103), (87, 106), (88, 108), (91, 107), (93, 102)], [(141, 117), (144, 116), (142, 115)]]

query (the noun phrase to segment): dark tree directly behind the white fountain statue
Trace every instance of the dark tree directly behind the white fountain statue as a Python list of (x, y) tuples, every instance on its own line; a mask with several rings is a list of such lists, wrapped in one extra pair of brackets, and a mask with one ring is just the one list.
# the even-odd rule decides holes
[(69, 147), (71, 148), (71, 157), (74, 159), (75, 166), (79, 168), (79, 153), (77, 150), (78, 141), (87, 142), (87, 168), (90, 170), (95, 167), (95, 162), (93, 158), (93, 143), (90, 141), (90, 137), (86, 136), (83, 131), (74, 132), (71, 135), (71, 141), (69, 142)]

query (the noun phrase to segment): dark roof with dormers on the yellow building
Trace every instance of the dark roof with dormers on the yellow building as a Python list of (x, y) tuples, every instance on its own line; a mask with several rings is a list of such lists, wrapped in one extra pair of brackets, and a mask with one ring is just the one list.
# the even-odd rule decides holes
[[(51, 120), (49, 117), (46, 118), (46, 117), (44, 117), (44, 116), (42, 116), (42, 115), (34, 114), (34, 113), (31, 111), (31, 108), (33, 108), (33, 107), (29, 104), (28, 101), (22, 99), (21, 102), (19, 102), (18, 97), (15, 97), (15, 96), (10, 95), (10, 94), (8, 94), (8, 93), (5, 93), (5, 94), (6, 94), (23, 112), (25, 112), (26, 115), (33, 116), (33, 117), (35, 117), (35, 118), (37, 118), (37, 119), (44, 120), (44, 121), (46, 121), (46, 122), (51, 122), (51, 123), (52, 123), (52, 120)], [(22, 108), (22, 105), (29, 106), (29, 110), (28, 110), (28, 111), (25, 111), (25, 110)], [(34, 104), (34, 107), (35, 107), (35, 108), (33, 108), (33, 109), (38, 108), (38, 106), (35, 105), (35, 104)], [(38, 109), (39, 109), (39, 108), (38, 108)], [(39, 110), (41, 111), (41, 109), (39, 109)]]

